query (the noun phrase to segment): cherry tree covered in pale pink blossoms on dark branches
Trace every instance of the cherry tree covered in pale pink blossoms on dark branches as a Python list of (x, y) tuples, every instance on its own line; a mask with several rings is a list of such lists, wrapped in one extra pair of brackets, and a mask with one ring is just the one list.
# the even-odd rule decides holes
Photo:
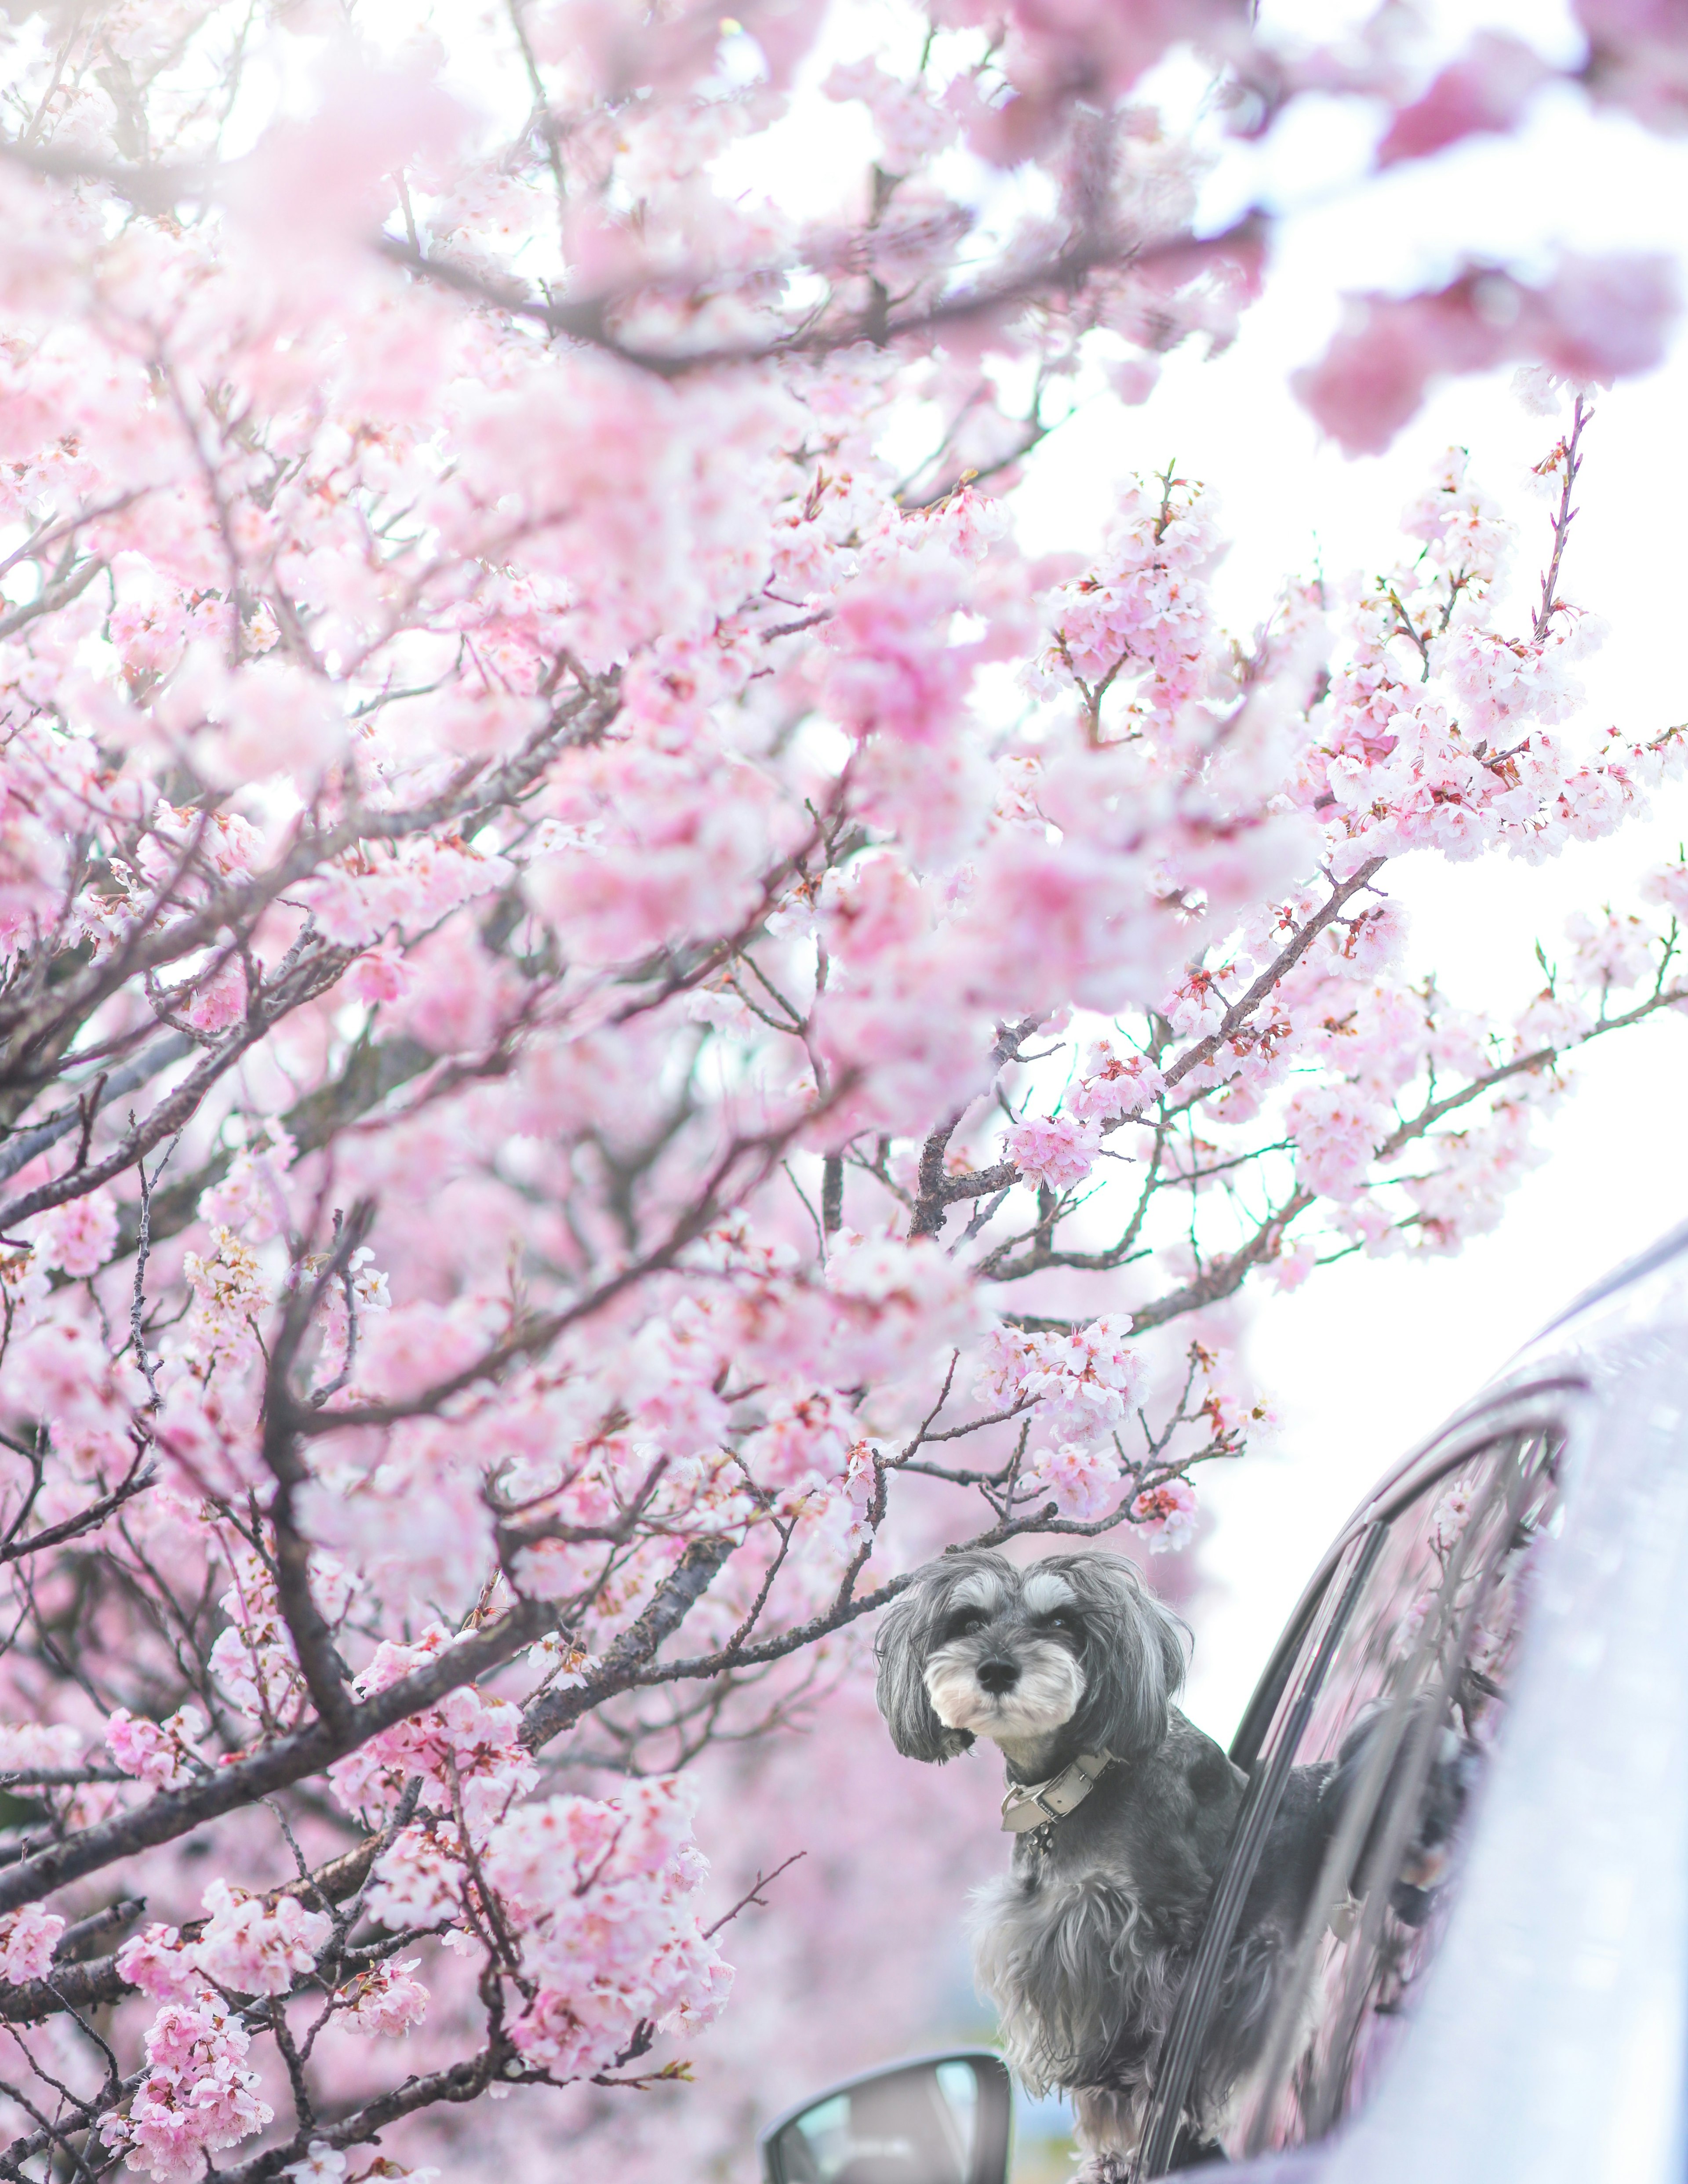
[[(1192, 225), (1203, 129), (1371, 100), (1382, 170), (1509, 131), (1531, 50), (362, 15), (0, 31), (13, 2180), (426, 2175), (480, 2094), (459, 2164), (559, 2114), (601, 2162), (690, 2062), (740, 2143), (777, 1981), (908, 1924), (828, 1935), (819, 1867), (961, 1839), (873, 1773), (873, 1610), (946, 1544), (1179, 1546), (1269, 1424), (1245, 1284), (1459, 1249), (1568, 1057), (1688, 996), (1681, 863), (1518, 1020), (1387, 889), (1679, 762), (1579, 725), (1564, 592), (1668, 269), (1358, 299), (1301, 382), (1363, 450), (1526, 367), (1522, 614), (1459, 452), (1243, 636), (1170, 463), (1096, 555), (1015, 544), (1074, 387), (1144, 400), (1267, 277), (1264, 214)], [(1581, 20), (1583, 96), (1675, 127), (1675, 15)], [(830, 223), (777, 190), (817, 103), (873, 138)]]

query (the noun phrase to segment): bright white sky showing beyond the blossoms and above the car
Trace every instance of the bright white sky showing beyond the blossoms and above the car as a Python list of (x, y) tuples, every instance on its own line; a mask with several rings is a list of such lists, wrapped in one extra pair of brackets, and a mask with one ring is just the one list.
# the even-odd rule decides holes
[[(1312, 9), (1297, 7), (1297, 17)], [(1323, 13), (1323, 11), (1321, 11)], [(1472, 24), (1476, 9), (1461, 9)], [(1505, 20), (1500, 7), (1485, 20)], [(1524, 28), (1518, 11), (1511, 17)], [(1548, 9), (1531, 9), (1542, 35)], [(1308, 205), (1284, 232), (1267, 299), (1216, 363), (1170, 360), (1133, 413), (1087, 413), (1046, 446), (1022, 491), (1022, 533), (1037, 548), (1083, 546), (1133, 467), (1179, 470), (1221, 496), (1236, 546), (1221, 601), (1247, 629), (1288, 568), (1317, 550), (1330, 574), (1369, 568), (1393, 546), (1393, 518), (1450, 443), (1472, 450), (1481, 480), (1531, 526), (1513, 607), (1535, 590), (1546, 509), (1520, 489), (1553, 443), (1526, 417), (1509, 373), (1443, 389), (1387, 456), (1343, 461), (1319, 446), (1291, 400), (1286, 371), (1323, 347), (1341, 288), (1408, 286), (1463, 249), (1511, 258), (1553, 236), (1579, 249), (1688, 247), (1688, 146), (1550, 100), (1524, 142), (1472, 144), (1398, 173), (1387, 199), (1341, 188), (1354, 124), (1299, 124), (1251, 173), (1216, 177), (1221, 225), (1249, 190)], [(1227, 194), (1229, 192), (1229, 194)], [(1609, 622), (1585, 670), (1590, 712), (1636, 736), (1688, 719), (1681, 633), (1688, 625), (1688, 343), (1642, 382), (1601, 397), (1585, 448), (1581, 518), (1564, 594)], [(1391, 867), (1413, 913), (1408, 961), (1435, 965), (1446, 992), (1505, 1007), (1540, 987), (1533, 946), (1555, 952), (1579, 906), (1633, 902), (1642, 871), (1688, 836), (1688, 788), (1614, 841), (1529, 867), (1487, 858)], [(1550, 1319), (1585, 1282), (1688, 1219), (1688, 1022), (1657, 1020), (1594, 1048), (1579, 1090), (1544, 1131), (1548, 1160), (1511, 1201), (1498, 1234), (1452, 1260), (1350, 1260), (1291, 1297), (1256, 1308), (1251, 1358), (1282, 1415), (1280, 1450), (1210, 1470), (1201, 1494), (1216, 1529), (1201, 1548), (1210, 1590), (1197, 1603), (1188, 1706), (1227, 1736), (1253, 1677), (1328, 1538), (1371, 1481)]]

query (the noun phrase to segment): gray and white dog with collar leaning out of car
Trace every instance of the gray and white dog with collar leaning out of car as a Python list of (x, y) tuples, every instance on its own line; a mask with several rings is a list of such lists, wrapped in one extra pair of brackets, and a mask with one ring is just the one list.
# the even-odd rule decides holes
[[(1072, 2094), (1087, 2184), (1125, 2177), (1162, 2035), (1201, 1935), (1245, 1776), (1173, 1706), (1184, 1625), (1118, 1555), (946, 1555), (878, 1638), (898, 1752), (1007, 1760), (1011, 1872), (980, 1889), (974, 1968), (1009, 2064)], [(1186, 2123), (1221, 2121), (1264, 2031), (1273, 1970), (1312, 1887), (1326, 1769), (1297, 1769), (1232, 1948)], [(1042, 1800), (1035, 1795), (1042, 1791)]]

